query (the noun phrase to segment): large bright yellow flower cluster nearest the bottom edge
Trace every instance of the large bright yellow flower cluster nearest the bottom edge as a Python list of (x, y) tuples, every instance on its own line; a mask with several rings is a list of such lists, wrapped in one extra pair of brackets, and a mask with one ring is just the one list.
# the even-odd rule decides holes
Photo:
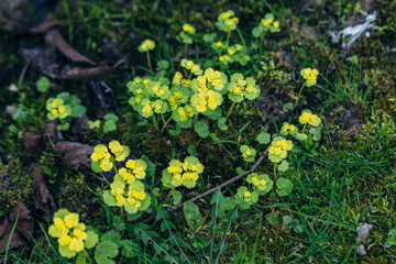
[(98, 235), (94, 231), (86, 232), (86, 226), (79, 222), (79, 216), (66, 209), (54, 215), (48, 234), (58, 239), (59, 253), (66, 257), (74, 257), (76, 253), (85, 248), (90, 249), (98, 242)]

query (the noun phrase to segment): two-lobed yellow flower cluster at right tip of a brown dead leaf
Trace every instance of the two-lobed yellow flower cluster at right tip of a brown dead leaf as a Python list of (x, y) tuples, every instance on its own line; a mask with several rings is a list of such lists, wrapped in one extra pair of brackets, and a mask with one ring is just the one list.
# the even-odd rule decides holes
[(123, 162), (130, 154), (130, 148), (127, 145), (121, 145), (118, 141), (111, 141), (109, 148), (113, 155), (111, 155), (106, 145), (99, 144), (95, 146), (94, 153), (90, 156), (94, 170), (110, 172), (116, 161)]

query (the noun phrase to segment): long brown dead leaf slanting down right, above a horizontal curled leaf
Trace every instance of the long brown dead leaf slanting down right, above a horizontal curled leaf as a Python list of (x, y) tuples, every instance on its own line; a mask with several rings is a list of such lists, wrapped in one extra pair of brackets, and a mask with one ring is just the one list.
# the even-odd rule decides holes
[(94, 63), (92, 61), (90, 61), (89, 58), (81, 55), (73, 47), (70, 47), (69, 44), (66, 43), (65, 38), (62, 36), (58, 30), (52, 30), (47, 32), (44, 38), (48, 45), (56, 47), (63, 55), (65, 55), (72, 62), (96, 65), (96, 63)]

